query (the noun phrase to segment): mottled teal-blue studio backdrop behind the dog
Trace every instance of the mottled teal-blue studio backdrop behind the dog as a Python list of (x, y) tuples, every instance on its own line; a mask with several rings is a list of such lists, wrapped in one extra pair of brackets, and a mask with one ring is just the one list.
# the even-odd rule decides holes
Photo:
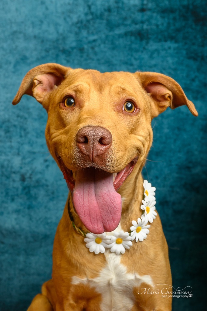
[[(48, 62), (173, 77), (195, 103), (153, 121), (145, 177), (157, 188), (174, 287), (192, 298), (173, 311), (203, 310), (206, 209), (206, 4), (202, 0), (7, 0), (0, 2), (0, 309), (24, 311), (51, 276), (67, 186), (49, 155), (47, 115), (34, 98), (11, 101), (31, 68)], [(205, 285), (206, 288), (206, 285)]]

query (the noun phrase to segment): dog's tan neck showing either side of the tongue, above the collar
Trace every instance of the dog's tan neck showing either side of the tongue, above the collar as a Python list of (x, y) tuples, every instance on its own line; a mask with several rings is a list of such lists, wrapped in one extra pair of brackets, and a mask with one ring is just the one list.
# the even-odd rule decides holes
[[(118, 193), (122, 197), (122, 216), (120, 225), (125, 232), (130, 230), (131, 221), (137, 220), (142, 214), (140, 206), (143, 199), (144, 189), (141, 169), (142, 166), (140, 166), (138, 170), (132, 171), (131, 175), (127, 178), (127, 183), (124, 183), (118, 190)], [(74, 224), (83, 232), (88, 233), (89, 231), (85, 228), (79, 216), (74, 211), (71, 193), (69, 193), (68, 200)], [(71, 221), (71, 217), (68, 217), (68, 220)]]

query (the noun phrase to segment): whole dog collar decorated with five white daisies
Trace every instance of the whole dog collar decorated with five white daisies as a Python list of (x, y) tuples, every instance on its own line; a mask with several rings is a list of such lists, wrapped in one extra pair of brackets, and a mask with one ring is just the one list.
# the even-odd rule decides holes
[[(155, 211), (155, 187), (152, 187), (151, 183), (144, 180), (144, 200), (142, 200), (141, 210), (143, 214), (141, 218), (137, 221), (132, 220), (132, 226), (129, 232), (124, 232), (123, 230), (119, 232), (113, 232), (111, 235), (107, 235), (105, 232), (102, 234), (87, 233), (85, 234), (80, 228), (77, 228), (74, 221), (71, 219), (74, 229), (85, 236), (85, 246), (89, 248), (89, 251), (95, 254), (105, 253), (106, 249), (109, 249), (112, 253), (117, 255), (124, 254), (126, 249), (132, 246), (132, 241), (142, 242), (147, 238), (147, 234), (150, 233), (150, 225), (148, 222), (152, 223), (156, 218), (157, 213)], [(69, 214), (70, 216), (70, 214)], [(70, 216), (71, 218), (71, 216)]]

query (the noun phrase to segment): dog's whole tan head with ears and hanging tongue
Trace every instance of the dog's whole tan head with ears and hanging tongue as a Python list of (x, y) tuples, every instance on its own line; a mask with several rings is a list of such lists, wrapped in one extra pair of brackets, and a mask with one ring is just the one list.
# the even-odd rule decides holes
[[(136, 178), (152, 144), (152, 118), (187, 105), (179, 84), (153, 72), (105, 72), (44, 64), (30, 70), (13, 100), (34, 96), (48, 112), (46, 141), (73, 195), (76, 213), (93, 233), (120, 222), (117, 192)], [(123, 185), (122, 185), (123, 184)]]

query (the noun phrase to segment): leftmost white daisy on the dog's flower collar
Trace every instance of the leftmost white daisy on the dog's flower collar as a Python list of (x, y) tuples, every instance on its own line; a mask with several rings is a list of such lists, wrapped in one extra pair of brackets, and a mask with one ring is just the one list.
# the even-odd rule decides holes
[(111, 235), (106, 235), (106, 233), (102, 234), (94, 234), (87, 233), (85, 241), (85, 246), (89, 248), (90, 252), (94, 252), (95, 254), (104, 253), (108, 244), (111, 243)]

